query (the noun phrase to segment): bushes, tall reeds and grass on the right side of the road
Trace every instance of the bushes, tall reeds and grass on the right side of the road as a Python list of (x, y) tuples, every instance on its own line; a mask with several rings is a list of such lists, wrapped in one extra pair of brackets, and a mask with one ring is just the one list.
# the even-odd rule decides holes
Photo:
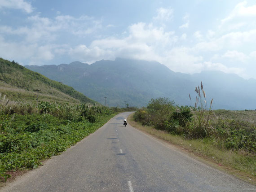
[(195, 92), (194, 107), (174, 106), (167, 98), (152, 99), (133, 118), (144, 126), (142, 129), (162, 139), (179, 145), (187, 143), (189, 150), (255, 175), (256, 111), (213, 111), (213, 100), (207, 108), (202, 83)]

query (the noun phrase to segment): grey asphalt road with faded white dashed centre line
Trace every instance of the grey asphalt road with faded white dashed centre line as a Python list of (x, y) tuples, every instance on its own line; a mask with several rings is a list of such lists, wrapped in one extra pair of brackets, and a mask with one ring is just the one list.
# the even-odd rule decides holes
[(120, 113), (61, 155), (0, 190), (5, 192), (256, 191), (131, 126)]

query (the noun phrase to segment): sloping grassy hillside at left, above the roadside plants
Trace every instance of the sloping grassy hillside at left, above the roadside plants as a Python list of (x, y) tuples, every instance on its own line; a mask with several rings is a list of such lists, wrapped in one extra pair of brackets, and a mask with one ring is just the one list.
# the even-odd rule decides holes
[(39, 100), (91, 103), (97, 102), (66, 86), (61, 82), (50, 80), (43, 75), (26, 69), (15, 61), (0, 58), (0, 92), (11, 100), (36, 102), (39, 89)]

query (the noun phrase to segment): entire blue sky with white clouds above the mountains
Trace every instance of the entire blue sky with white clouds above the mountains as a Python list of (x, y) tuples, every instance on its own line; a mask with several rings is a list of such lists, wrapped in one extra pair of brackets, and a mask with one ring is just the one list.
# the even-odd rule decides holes
[(0, 57), (158, 61), (256, 79), (256, 0), (0, 0)]

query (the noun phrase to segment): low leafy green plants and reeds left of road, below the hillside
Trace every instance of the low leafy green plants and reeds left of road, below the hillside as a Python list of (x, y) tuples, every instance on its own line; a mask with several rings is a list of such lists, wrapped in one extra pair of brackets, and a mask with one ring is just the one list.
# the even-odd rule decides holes
[(0, 177), (7, 171), (36, 168), (40, 162), (96, 131), (119, 108), (42, 101), (35, 105), (12, 103), (0, 96)]

